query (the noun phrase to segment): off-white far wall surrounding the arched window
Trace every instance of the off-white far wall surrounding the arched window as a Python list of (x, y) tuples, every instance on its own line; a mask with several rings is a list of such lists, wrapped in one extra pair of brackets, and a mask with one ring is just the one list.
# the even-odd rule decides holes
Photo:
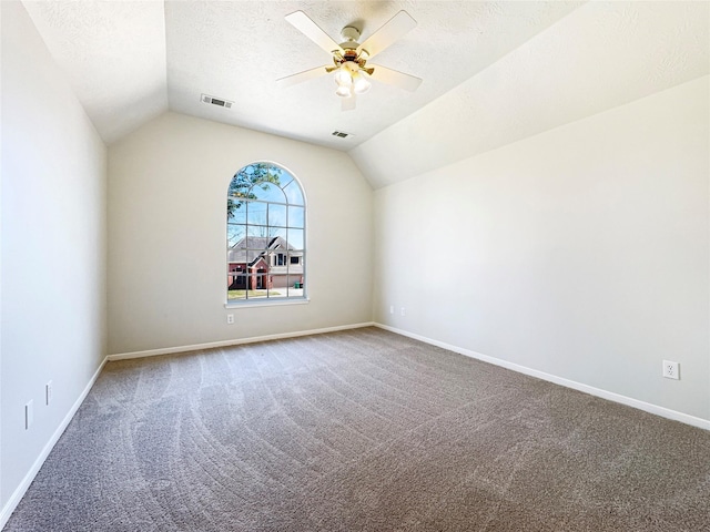
[[(226, 190), (254, 161), (305, 190), (307, 305), (224, 308)], [(109, 242), (111, 354), (372, 319), (372, 188), (342, 152), (164, 114), (109, 150)]]

